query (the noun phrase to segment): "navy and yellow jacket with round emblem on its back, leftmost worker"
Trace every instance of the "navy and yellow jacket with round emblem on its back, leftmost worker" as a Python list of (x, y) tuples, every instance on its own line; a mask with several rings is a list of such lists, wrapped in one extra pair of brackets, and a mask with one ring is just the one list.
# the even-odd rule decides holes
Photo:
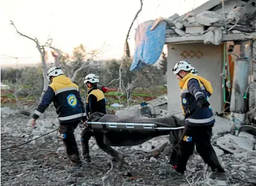
[(53, 78), (52, 84), (49, 85), (32, 117), (37, 120), (51, 102), (59, 115), (60, 124), (81, 121), (82, 116), (85, 116), (84, 103), (82, 103), (78, 86), (64, 75)]

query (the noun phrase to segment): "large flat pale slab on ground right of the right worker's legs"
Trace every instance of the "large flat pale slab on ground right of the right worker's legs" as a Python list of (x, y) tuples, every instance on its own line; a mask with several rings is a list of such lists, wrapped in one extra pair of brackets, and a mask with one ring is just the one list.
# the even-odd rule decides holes
[(253, 142), (243, 137), (236, 137), (230, 133), (219, 137), (217, 139), (217, 145), (223, 150), (232, 152), (232, 153), (241, 153), (246, 151), (251, 151), (254, 148)]

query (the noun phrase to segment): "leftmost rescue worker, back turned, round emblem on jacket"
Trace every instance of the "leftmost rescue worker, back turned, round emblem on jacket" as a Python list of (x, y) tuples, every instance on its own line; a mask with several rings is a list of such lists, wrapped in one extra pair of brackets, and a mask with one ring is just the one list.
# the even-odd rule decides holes
[(46, 108), (53, 102), (56, 113), (59, 115), (59, 132), (66, 146), (67, 155), (73, 168), (81, 167), (81, 160), (77, 143), (75, 142), (74, 129), (79, 122), (85, 121), (84, 103), (81, 101), (78, 85), (63, 75), (59, 66), (53, 66), (46, 76), (52, 83), (48, 86), (42, 101), (34, 111), (32, 125), (44, 113)]

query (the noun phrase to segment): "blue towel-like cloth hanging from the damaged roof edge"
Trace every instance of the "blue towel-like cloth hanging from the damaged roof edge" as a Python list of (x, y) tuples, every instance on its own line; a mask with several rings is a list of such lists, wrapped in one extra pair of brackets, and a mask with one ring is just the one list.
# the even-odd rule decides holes
[(139, 24), (135, 33), (135, 53), (130, 70), (138, 70), (144, 65), (153, 65), (160, 58), (165, 43), (166, 21), (160, 21), (150, 31), (154, 21)]

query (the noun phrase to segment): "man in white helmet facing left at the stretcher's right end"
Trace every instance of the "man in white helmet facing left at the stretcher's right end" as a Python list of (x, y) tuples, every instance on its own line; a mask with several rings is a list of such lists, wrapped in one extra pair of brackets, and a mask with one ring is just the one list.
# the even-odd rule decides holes
[(185, 128), (179, 141), (179, 152), (173, 163), (172, 170), (183, 174), (190, 155), (193, 154), (194, 144), (204, 162), (210, 166), (212, 172), (224, 173), (217, 155), (211, 145), (214, 114), (208, 98), (213, 90), (210, 81), (201, 76), (195, 76), (193, 66), (188, 61), (178, 62), (172, 71), (179, 80), (181, 88), (181, 105), (185, 115)]

